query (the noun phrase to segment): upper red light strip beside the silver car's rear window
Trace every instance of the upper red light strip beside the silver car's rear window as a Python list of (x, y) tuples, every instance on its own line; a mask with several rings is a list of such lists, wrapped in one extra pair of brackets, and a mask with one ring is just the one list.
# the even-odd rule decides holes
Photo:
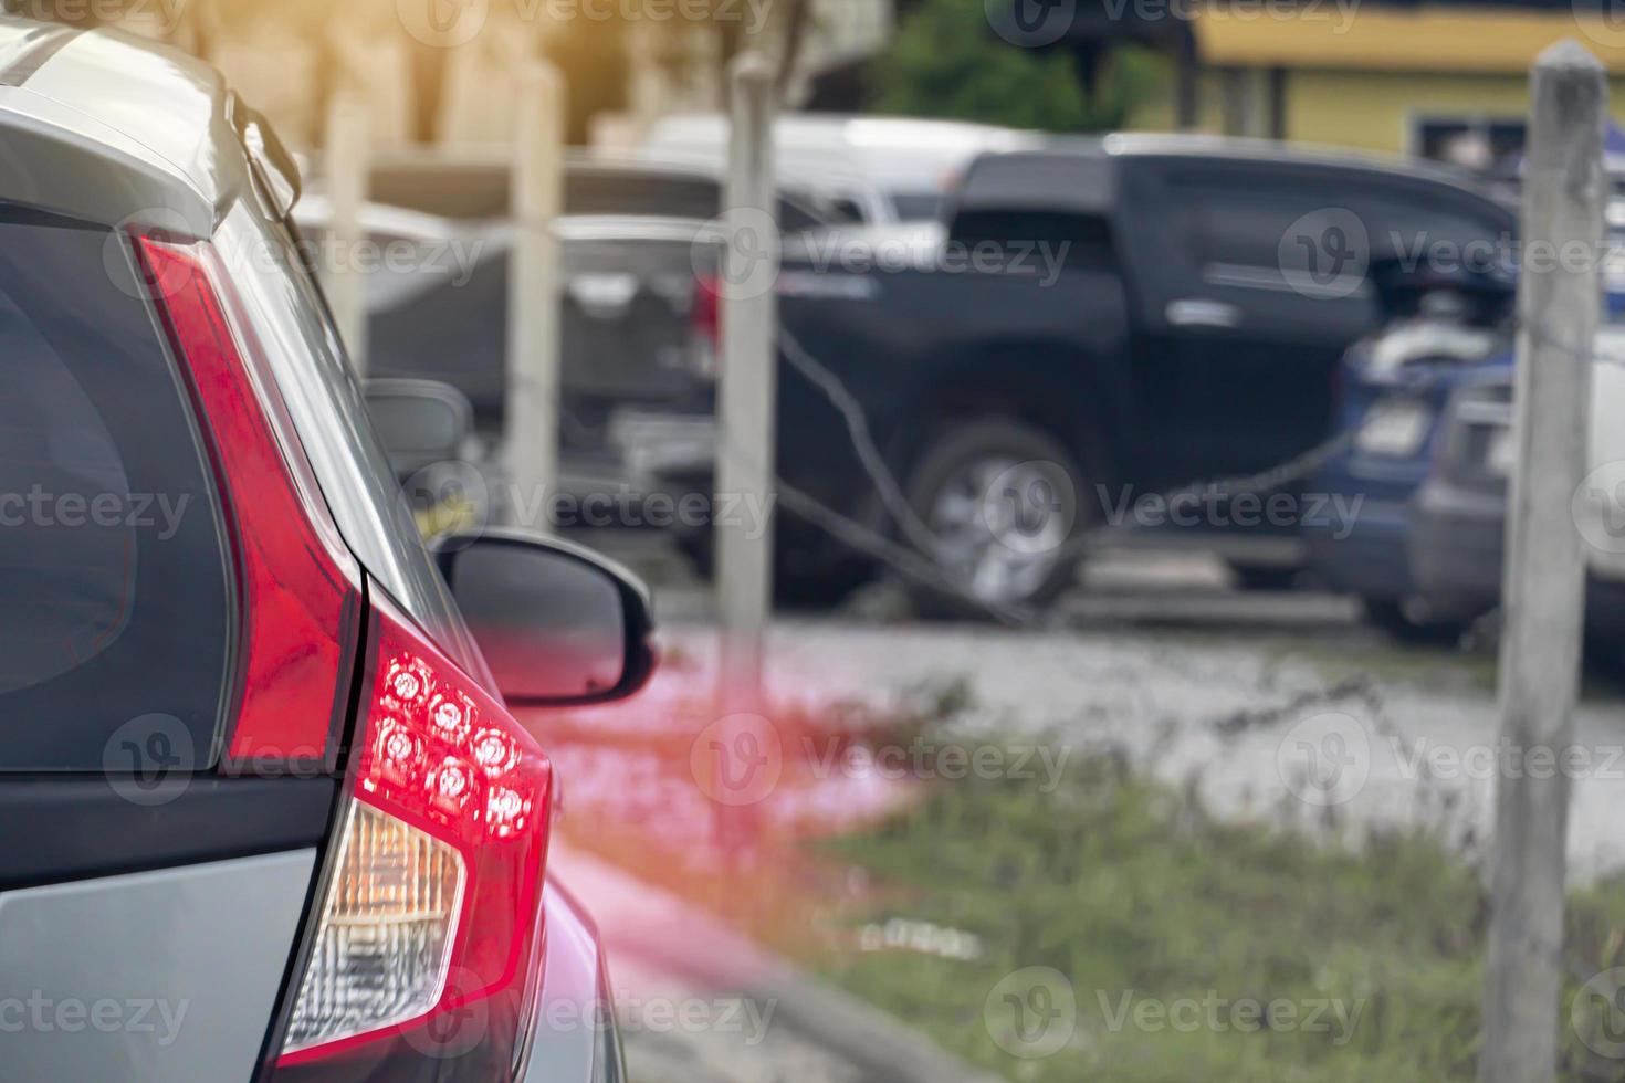
[(239, 347), (213, 248), (153, 237), (135, 247), (188, 377), (236, 549), (240, 661), (226, 766), (327, 762), (359, 630), (359, 570), (302, 450), (271, 429), (281, 399), (257, 343)]

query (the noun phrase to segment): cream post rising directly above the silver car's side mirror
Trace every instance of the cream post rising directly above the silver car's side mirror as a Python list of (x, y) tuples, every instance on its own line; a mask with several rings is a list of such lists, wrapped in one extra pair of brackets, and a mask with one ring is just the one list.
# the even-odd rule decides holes
[(549, 531), (559, 477), (559, 245), (564, 200), (564, 80), (531, 60), (518, 73), (514, 133), (514, 250), (509, 268), (507, 469), (520, 526)]

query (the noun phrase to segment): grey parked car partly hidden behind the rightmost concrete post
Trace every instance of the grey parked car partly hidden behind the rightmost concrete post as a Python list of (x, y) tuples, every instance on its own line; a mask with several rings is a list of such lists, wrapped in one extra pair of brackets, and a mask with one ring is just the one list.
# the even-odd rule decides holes
[[(1609, 294), (1591, 380), (1591, 469), (1625, 463), (1625, 294)], [(1441, 619), (1472, 622), (1500, 606), (1508, 482), (1516, 463), (1513, 354), (1454, 390), (1417, 490), (1406, 552), (1417, 593)], [(1622, 474), (1625, 477), (1625, 474)], [(1586, 539), (1586, 628), (1592, 654), (1625, 658), (1625, 521), (1620, 492), (1588, 479), (1576, 494)], [(1618, 479), (1615, 479), (1618, 481)]]

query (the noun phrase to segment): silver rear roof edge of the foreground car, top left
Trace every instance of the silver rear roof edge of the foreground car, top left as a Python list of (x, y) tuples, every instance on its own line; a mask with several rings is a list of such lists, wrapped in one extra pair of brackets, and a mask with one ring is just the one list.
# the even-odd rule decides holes
[(3, 200), (99, 221), (179, 213), (205, 235), (247, 180), (219, 153), (234, 107), (218, 71), (167, 45), (0, 15)]

